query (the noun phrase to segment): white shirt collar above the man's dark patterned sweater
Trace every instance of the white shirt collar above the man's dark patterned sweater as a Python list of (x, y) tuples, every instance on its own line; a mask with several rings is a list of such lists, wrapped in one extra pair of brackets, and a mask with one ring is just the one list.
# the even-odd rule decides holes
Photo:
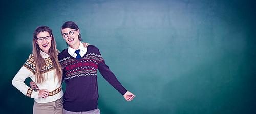
[[(80, 45), (79, 45), (78, 49), (80, 50), (79, 54), (81, 55), (81, 57), (83, 57), (83, 56), (86, 54), (86, 52), (87, 52), (87, 48), (86, 48), (86, 47), (83, 47), (83, 44), (82, 44), (81, 41), (80, 41)], [(78, 49), (77, 49), (77, 50), (78, 50)], [(76, 56), (77, 56), (77, 54), (75, 53), (75, 51), (76, 51), (76, 49), (73, 49), (73, 48), (71, 48), (71, 47), (69, 46), (69, 48), (68, 48), (68, 53), (69, 53), (72, 57), (74, 57), (74, 58), (76, 58)]]

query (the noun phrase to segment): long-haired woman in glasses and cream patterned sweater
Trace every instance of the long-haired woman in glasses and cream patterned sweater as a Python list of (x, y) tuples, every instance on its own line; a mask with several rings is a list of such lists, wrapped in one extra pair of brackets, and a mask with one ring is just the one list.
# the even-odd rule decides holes
[[(58, 53), (52, 30), (38, 26), (33, 34), (32, 54), (12, 80), (20, 92), (34, 98), (33, 113), (63, 113), (62, 68)], [(24, 83), (28, 77), (37, 84), (37, 91)]]

